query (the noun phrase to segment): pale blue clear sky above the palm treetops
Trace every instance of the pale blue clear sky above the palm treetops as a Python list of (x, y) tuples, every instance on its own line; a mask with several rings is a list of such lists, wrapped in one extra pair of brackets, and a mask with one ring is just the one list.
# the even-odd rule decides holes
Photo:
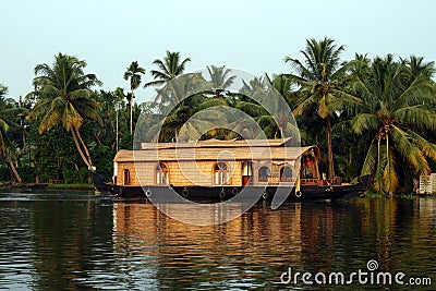
[[(436, 61), (433, 0), (2, 0), (0, 84), (17, 99), (33, 89), (34, 68), (58, 52), (85, 60), (101, 89), (129, 89), (132, 61), (152, 81), (167, 50), (190, 57), (185, 72), (226, 65), (254, 75), (290, 72), (286, 56), (302, 59), (308, 38), (329, 37), (354, 53)], [(150, 100), (154, 89), (135, 92)]]

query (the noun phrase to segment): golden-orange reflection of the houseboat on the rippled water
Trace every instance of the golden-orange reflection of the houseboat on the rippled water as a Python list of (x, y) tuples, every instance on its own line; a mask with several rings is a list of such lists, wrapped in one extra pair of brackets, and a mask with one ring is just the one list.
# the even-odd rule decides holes
[(153, 262), (149, 274), (156, 270), (159, 287), (259, 287), (270, 266), (300, 262), (300, 204), (277, 214), (261, 206), (228, 223), (199, 227), (173, 220), (150, 204), (119, 203), (114, 251), (128, 260)]

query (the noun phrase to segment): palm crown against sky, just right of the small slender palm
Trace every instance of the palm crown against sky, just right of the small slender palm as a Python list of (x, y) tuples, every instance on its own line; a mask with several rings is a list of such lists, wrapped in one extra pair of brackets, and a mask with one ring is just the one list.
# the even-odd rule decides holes
[(179, 51), (170, 52), (167, 50), (167, 56), (164, 58), (164, 61), (157, 59), (153, 62), (158, 66), (158, 70), (152, 70), (154, 81), (146, 83), (144, 87), (161, 86), (178, 75), (181, 75), (189, 61), (191, 61), (191, 59), (186, 58), (180, 62)]

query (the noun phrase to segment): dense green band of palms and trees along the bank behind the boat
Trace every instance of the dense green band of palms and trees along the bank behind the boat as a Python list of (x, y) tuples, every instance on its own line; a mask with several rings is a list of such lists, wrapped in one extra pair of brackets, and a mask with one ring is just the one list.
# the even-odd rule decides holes
[[(302, 144), (320, 147), (322, 171), (328, 177), (351, 181), (371, 173), (378, 193), (410, 192), (414, 179), (435, 171), (434, 62), (415, 56), (370, 59), (358, 53), (343, 60), (343, 50), (329, 38), (307, 39), (300, 56), (284, 57), (288, 72), (258, 76), (243, 86), (262, 90), (268, 82), (277, 89), (293, 110)], [(159, 90), (183, 74), (190, 61), (170, 51), (149, 69), (132, 61), (120, 75), (120, 85), (129, 82), (130, 92), (124, 93), (120, 87), (100, 89), (101, 82), (97, 74), (86, 73), (84, 60), (59, 53), (52, 64), (36, 64), (34, 90), (20, 100), (1, 85), (0, 181), (86, 183), (95, 169), (109, 178), (117, 150), (134, 146), (140, 116), (166, 116), (156, 138), (169, 142), (195, 113), (231, 107), (256, 120), (268, 138), (280, 137), (280, 118), (274, 120), (243, 94), (226, 94), (235, 78), (226, 66), (207, 66), (210, 87), (219, 90), (182, 101), (177, 95), (159, 94), (152, 101), (135, 102), (142, 83)], [(190, 77), (195, 82), (198, 75)], [(186, 92), (189, 86), (185, 82), (174, 89)], [(244, 130), (243, 121), (232, 126)], [(217, 129), (203, 138), (233, 138), (235, 131)]]

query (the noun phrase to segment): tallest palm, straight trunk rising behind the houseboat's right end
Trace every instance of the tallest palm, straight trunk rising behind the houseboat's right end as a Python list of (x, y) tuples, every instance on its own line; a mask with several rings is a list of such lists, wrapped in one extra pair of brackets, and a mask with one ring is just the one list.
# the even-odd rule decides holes
[[(358, 98), (347, 94), (343, 89), (347, 73), (354, 62), (340, 63), (340, 53), (343, 46), (334, 45), (330, 38), (319, 41), (311, 38), (306, 40), (304, 64), (296, 59), (286, 57), (296, 74), (288, 74), (299, 86), (300, 100), (294, 108), (294, 116), (308, 112), (316, 105), (316, 113), (326, 122), (326, 143), (328, 160), (328, 178), (335, 177), (334, 153), (331, 145), (331, 120), (336, 111), (342, 110), (347, 102), (356, 102)], [(310, 113), (310, 112), (308, 112)]]

